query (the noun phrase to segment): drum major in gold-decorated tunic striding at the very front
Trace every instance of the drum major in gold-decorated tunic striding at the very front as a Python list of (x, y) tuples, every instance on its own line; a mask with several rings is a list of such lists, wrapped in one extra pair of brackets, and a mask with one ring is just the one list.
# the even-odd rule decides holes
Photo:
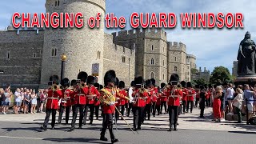
[(104, 76), (104, 84), (105, 88), (100, 90), (100, 102), (102, 103), (103, 109), (103, 124), (102, 124), (102, 132), (101, 132), (101, 140), (107, 141), (105, 137), (106, 128), (109, 128), (111, 142), (118, 142), (118, 139), (114, 137), (113, 131), (113, 114), (115, 110), (115, 90), (114, 90), (114, 82), (116, 82), (116, 74), (114, 70), (109, 70), (106, 72)]

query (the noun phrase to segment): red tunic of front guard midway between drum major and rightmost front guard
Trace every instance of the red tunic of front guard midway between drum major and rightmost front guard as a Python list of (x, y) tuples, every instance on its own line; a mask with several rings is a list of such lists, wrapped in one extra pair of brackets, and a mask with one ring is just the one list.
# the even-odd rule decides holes
[(134, 106), (146, 106), (145, 98), (148, 96), (148, 93), (146, 91), (140, 92), (140, 89), (135, 89), (132, 96), (134, 97)]

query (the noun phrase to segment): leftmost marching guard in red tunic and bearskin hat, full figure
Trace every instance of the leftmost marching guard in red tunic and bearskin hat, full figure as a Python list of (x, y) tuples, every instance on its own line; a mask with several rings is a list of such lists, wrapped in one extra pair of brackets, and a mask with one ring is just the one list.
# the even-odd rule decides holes
[(50, 82), (52, 83), (51, 89), (48, 90), (48, 97), (46, 99), (46, 118), (41, 130), (47, 130), (47, 125), (50, 119), (50, 114), (52, 113), (51, 129), (54, 130), (56, 110), (58, 109), (58, 100), (62, 98), (62, 90), (58, 88), (58, 75), (53, 75), (50, 77)]

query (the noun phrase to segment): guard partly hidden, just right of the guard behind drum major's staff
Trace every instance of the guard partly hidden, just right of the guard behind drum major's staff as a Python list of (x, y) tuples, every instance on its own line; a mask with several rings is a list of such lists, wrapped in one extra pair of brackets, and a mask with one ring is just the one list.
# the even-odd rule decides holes
[(150, 89), (150, 86), (152, 86), (152, 82), (150, 79), (146, 80), (146, 90), (148, 91), (146, 98), (146, 106), (144, 110), (144, 120), (146, 120), (146, 114), (147, 114), (147, 120), (150, 120), (150, 112), (151, 112), (151, 106), (152, 106), (152, 97), (154, 94), (154, 89)]

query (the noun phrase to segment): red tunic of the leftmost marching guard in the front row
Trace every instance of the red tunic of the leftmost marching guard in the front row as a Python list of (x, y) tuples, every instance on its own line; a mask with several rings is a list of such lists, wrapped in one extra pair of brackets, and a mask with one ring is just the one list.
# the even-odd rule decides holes
[(49, 90), (46, 102), (46, 109), (58, 109), (58, 100), (62, 98), (62, 90)]

